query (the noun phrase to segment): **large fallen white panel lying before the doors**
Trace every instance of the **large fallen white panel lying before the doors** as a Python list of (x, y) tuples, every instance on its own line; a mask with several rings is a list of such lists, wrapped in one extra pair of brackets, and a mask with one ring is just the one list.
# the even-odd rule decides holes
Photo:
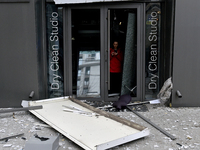
[[(108, 149), (149, 135), (149, 130), (143, 126), (136, 124), (137, 129), (133, 128), (135, 124), (128, 120), (133, 125), (125, 125), (109, 118), (107, 112), (97, 113), (89, 109), (92, 106), (83, 107), (87, 104), (78, 104), (68, 97), (31, 101), (29, 105), (42, 105), (43, 109), (30, 112), (86, 150)], [(76, 111), (70, 111), (66, 106), (76, 108)]]

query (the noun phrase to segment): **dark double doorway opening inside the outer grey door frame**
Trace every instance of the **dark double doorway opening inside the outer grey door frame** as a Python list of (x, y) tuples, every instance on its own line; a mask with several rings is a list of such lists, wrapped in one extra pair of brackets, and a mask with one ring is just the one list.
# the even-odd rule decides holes
[[(71, 9), (71, 89), (76, 98), (113, 101), (119, 95), (140, 96), (139, 6)], [(115, 58), (111, 53), (116, 42)], [(117, 61), (120, 67), (116, 71), (112, 67)]]

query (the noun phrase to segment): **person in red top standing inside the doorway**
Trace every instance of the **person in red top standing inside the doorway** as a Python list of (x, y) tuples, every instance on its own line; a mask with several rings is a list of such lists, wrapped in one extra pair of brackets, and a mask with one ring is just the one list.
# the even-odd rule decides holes
[(113, 42), (110, 48), (110, 91), (120, 93), (122, 82), (123, 51), (118, 47), (118, 41)]

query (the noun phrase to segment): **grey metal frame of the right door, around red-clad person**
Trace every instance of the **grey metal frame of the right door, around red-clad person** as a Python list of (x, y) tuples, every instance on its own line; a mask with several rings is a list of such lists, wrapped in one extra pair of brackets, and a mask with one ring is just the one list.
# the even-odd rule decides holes
[[(109, 4), (106, 5), (105, 10), (106, 13), (104, 18), (108, 18), (108, 10), (109, 9), (126, 9), (126, 8), (131, 8), (131, 9), (137, 9), (137, 96), (132, 98), (132, 100), (140, 100), (143, 101), (145, 97), (145, 76), (144, 76), (144, 68), (145, 68), (145, 3), (116, 3), (116, 4)], [(109, 82), (109, 68), (108, 68), (108, 54), (109, 54), (109, 47), (110, 47), (110, 41), (109, 41), (109, 31), (108, 31), (108, 25), (110, 23), (108, 22), (107, 19), (107, 24), (105, 26), (105, 33), (106, 33), (106, 38), (104, 40), (104, 43), (106, 45), (105, 47), (105, 54), (106, 54), (106, 60), (104, 68), (105, 69), (105, 101), (114, 101), (116, 98), (108, 98), (108, 82)]]

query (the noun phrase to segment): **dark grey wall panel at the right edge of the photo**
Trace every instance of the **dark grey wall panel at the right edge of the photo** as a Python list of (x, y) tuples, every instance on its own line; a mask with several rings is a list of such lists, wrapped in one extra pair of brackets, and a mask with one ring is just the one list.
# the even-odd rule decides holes
[(176, 0), (172, 106), (200, 106), (199, 6), (199, 0)]

